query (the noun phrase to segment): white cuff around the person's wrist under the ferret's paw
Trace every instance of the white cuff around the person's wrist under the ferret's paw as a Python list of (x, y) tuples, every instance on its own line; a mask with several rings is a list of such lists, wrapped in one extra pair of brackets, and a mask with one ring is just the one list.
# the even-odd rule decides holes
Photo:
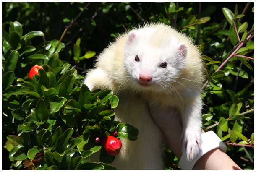
[(182, 155), (179, 162), (180, 169), (193, 169), (197, 160), (199, 160), (201, 156), (215, 148), (220, 148), (224, 152), (227, 151), (227, 146), (213, 131), (202, 133), (202, 145), (199, 154), (191, 161), (187, 160), (186, 155)]

